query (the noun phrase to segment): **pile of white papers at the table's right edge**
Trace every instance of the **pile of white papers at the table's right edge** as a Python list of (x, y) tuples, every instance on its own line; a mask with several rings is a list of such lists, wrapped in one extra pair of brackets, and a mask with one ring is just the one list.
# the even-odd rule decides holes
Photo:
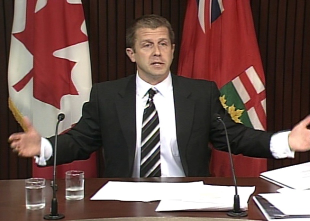
[(268, 221), (310, 220), (310, 162), (263, 172), (260, 177), (283, 188), (253, 200)]

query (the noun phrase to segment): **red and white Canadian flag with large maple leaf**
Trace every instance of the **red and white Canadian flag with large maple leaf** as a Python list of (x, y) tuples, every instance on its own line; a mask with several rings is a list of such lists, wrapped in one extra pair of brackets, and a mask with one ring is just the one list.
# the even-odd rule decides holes
[[(8, 105), (15, 119), (27, 117), (42, 137), (53, 136), (57, 115), (64, 113), (58, 131), (81, 116), (89, 98), (91, 69), (88, 38), (80, 0), (15, 0), (8, 64)], [(23, 129), (25, 129), (23, 127)], [(52, 177), (51, 167), (33, 163), (33, 177)], [(57, 166), (83, 170), (96, 177), (96, 156)]]

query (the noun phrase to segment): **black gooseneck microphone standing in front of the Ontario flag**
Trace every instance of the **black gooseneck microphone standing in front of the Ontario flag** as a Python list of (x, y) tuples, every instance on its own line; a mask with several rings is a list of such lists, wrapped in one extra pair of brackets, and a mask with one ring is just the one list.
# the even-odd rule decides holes
[(224, 126), (225, 135), (226, 135), (226, 143), (227, 143), (228, 152), (229, 152), (230, 168), (231, 168), (232, 178), (233, 178), (233, 183), (234, 183), (235, 194), (234, 194), (234, 198), (233, 198), (233, 210), (229, 211), (227, 213), (227, 215), (230, 217), (246, 217), (247, 212), (240, 210), (240, 199), (239, 199), (239, 195), (238, 195), (237, 181), (236, 181), (236, 176), (234, 173), (234, 166), (233, 166), (233, 161), (232, 161), (232, 156), (231, 156), (232, 154), (231, 154), (231, 149), (230, 149), (226, 125), (225, 125), (224, 121), (221, 119), (219, 114), (214, 114), (214, 117), (216, 118), (217, 121), (221, 122), (222, 125)]

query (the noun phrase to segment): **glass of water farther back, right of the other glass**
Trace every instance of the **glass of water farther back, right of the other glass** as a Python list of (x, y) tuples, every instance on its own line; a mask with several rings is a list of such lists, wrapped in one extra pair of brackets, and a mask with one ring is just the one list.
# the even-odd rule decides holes
[(84, 198), (84, 171), (65, 172), (65, 199), (81, 200)]

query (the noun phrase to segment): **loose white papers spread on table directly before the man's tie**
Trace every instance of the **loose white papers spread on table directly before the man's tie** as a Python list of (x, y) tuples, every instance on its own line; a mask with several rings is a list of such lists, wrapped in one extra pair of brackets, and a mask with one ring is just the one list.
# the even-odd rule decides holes
[[(247, 201), (255, 187), (237, 187), (240, 208), (247, 210)], [(189, 183), (109, 181), (90, 200), (160, 201), (156, 212), (181, 210), (225, 211), (232, 209), (233, 186)]]

